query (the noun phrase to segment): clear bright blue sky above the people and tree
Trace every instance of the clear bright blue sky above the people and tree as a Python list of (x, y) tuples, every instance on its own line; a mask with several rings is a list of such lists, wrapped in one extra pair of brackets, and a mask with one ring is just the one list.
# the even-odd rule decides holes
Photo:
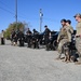
[[(0, 0), (0, 31), (5, 30), (10, 24), (15, 22), (15, 1)], [(44, 25), (51, 30), (59, 30), (60, 19), (71, 21), (73, 29), (77, 22), (73, 15), (81, 13), (81, 0), (17, 0), (17, 19), (26, 22), (30, 29), (40, 30), (40, 9), (42, 9), (42, 31)]]

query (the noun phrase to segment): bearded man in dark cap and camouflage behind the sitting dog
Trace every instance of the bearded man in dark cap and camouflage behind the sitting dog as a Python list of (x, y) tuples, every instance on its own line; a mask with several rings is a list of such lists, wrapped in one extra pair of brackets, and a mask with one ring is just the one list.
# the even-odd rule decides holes
[(57, 42), (58, 42), (58, 57), (57, 59), (60, 59), (62, 53), (63, 53), (63, 45), (67, 42), (71, 42), (71, 26), (69, 25), (68, 21), (62, 19), (60, 21), (62, 28), (59, 31), (59, 35), (57, 37)]

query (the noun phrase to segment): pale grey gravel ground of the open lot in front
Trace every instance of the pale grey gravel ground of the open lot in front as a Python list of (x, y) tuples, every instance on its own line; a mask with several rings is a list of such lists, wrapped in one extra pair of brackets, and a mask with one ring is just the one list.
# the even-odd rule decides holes
[(0, 45), (0, 81), (81, 81), (81, 65), (56, 60), (56, 51)]

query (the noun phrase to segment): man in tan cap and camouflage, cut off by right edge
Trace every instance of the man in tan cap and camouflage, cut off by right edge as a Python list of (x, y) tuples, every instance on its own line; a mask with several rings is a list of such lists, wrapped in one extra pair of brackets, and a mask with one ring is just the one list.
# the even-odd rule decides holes
[(81, 14), (78, 13), (73, 17), (78, 22), (76, 33), (76, 48), (78, 50), (79, 60), (76, 64), (81, 64)]

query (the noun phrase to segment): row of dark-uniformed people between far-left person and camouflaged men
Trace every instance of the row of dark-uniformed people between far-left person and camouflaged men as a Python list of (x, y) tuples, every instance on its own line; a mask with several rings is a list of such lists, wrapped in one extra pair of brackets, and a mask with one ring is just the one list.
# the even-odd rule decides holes
[[(45, 30), (43, 31), (44, 42), (48, 48), (49, 39), (51, 39), (51, 30), (48, 26), (44, 26)], [(11, 42), (13, 45), (17, 45), (17, 41), (19, 41), (19, 46), (24, 46), (24, 42), (27, 43), (28, 48), (39, 49), (40, 42), (39, 31), (32, 29), (32, 31), (28, 28), (26, 35), (23, 31), (18, 30), (17, 32), (13, 29), (11, 32)], [(23, 44), (22, 44), (23, 43)]]

